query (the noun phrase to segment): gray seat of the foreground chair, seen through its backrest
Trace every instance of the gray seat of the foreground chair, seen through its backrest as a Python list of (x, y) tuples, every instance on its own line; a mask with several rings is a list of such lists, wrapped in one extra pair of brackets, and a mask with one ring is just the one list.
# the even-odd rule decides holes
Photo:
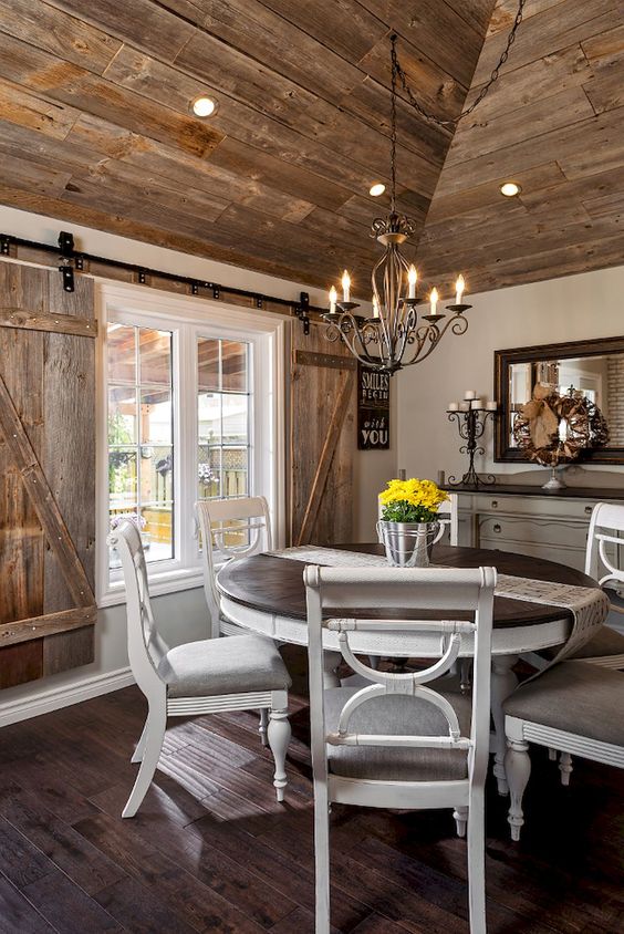
[[(430, 686), (430, 685), (428, 685)], [(435, 685), (439, 691), (439, 682)], [(333, 687), (325, 691), (325, 728), (337, 731), (340, 712), (360, 688)], [(457, 712), (462, 736), (470, 735), (471, 699), (447, 694)], [(350, 733), (398, 736), (448, 733), (444, 715), (426, 700), (405, 695), (373, 698), (351, 717)], [(449, 781), (468, 775), (466, 753), (457, 749), (407, 749), (375, 746), (329, 746), (329, 767), (334, 775), (399, 781)]]

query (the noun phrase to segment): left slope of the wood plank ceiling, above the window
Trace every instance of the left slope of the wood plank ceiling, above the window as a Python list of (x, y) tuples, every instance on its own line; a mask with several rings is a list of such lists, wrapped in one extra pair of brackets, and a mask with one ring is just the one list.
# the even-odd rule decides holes
[[(492, 7), (4, 0), (0, 203), (323, 288), (346, 264), (367, 298), (389, 31), (422, 102), (453, 116)], [(189, 112), (201, 93), (209, 121)], [(398, 122), (398, 203), (422, 228), (451, 133), (403, 101)]]

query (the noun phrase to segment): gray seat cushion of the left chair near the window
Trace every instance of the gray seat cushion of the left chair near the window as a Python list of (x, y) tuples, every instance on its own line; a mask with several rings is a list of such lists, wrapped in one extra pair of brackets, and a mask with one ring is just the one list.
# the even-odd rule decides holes
[(158, 665), (169, 697), (281, 691), (290, 675), (273, 643), (259, 635), (206, 639), (170, 648)]

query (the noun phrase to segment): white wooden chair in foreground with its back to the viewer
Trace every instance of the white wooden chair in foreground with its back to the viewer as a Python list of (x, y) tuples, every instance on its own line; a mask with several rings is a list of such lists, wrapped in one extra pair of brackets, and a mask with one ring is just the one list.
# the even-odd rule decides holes
[[(305, 569), (310, 714), (314, 777), (316, 934), (330, 931), (332, 801), (375, 808), (453, 808), (460, 836), (468, 826), (470, 931), (486, 932), (483, 786), (490, 728), (493, 568)], [(445, 619), (353, 620), (354, 608), (435, 610)], [(341, 619), (325, 619), (327, 608)], [(453, 620), (454, 611), (474, 622)], [(323, 689), (323, 631), (335, 633), (344, 660), (368, 684)], [(351, 632), (439, 634), (440, 658), (426, 671), (378, 672), (350, 645)], [(472, 700), (426, 687), (470, 643), (476, 658)], [(372, 682), (372, 683), (371, 683)], [(436, 688), (439, 684), (436, 684)]]

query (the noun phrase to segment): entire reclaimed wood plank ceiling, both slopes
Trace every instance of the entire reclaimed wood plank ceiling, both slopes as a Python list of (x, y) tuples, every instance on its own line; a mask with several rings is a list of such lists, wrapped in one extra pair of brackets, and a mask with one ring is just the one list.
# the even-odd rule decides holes
[[(428, 280), (461, 268), (475, 291), (622, 261), (622, 6), (529, 0), (455, 138), (399, 102), (399, 206)], [(347, 266), (366, 298), (389, 32), (423, 105), (453, 117), (514, 7), (0, 0), (0, 203), (323, 288)], [(206, 121), (189, 111), (201, 93), (218, 102)], [(523, 189), (510, 201), (507, 177)]]

